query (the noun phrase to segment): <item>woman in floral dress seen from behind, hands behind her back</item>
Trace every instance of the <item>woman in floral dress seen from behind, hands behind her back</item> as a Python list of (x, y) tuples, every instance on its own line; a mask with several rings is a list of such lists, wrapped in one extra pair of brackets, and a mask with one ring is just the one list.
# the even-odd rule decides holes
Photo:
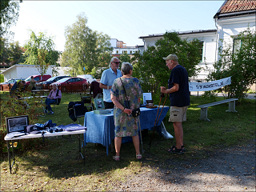
[(134, 118), (131, 114), (132, 110), (140, 106), (142, 87), (138, 78), (131, 76), (133, 66), (129, 62), (122, 63), (121, 71), (122, 78), (115, 79), (111, 89), (111, 100), (114, 102), (114, 146), (116, 151), (113, 158), (115, 161), (119, 161), (122, 137), (131, 136), (136, 150), (136, 158), (142, 159), (142, 154), (139, 151), (138, 117)]

